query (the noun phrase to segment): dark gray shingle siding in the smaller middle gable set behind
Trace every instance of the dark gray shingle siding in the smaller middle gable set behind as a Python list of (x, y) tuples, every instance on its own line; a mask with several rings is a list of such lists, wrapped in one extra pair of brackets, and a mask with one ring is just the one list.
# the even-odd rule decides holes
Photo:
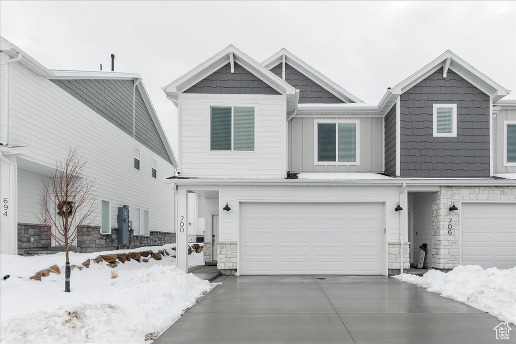
[[(282, 77), (282, 63), (273, 67), (270, 71), (280, 78)], [(288, 63), (285, 63), (285, 81), (299, 90), (299, 104), (341, 104), (345, 103), (340, 98), (317, 84), (314, 80), (304, 75)]]

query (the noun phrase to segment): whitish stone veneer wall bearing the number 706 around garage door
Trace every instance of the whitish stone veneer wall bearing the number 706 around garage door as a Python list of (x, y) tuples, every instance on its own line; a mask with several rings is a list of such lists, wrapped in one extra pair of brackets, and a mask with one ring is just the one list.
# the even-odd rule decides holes
[[(516, 201), (516, 187), (441, 187), (432, 202), (433, 268), (448, 270), (459, 265), (459, 201)], [(459, 207), (458, 211), (448, 210), (451, 202)]]

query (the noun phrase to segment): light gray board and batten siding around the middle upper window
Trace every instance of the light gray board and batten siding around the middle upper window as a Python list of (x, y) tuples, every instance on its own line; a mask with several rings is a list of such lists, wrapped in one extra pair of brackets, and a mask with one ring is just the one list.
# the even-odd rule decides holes
[[(324, 120), (360, 121), (360, 165), (315, 165), (315, 123)], [(383, 172), (382, 119), (379, 117), (294, 117), (288, 122), (288, 170), (301, 172)]]

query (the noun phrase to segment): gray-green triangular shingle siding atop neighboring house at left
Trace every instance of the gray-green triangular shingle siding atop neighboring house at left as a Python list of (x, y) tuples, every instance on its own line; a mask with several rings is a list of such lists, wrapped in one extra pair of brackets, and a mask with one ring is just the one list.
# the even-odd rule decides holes
[[(52, 80), (90, 109), (133, 136), (133, 80)], [(138, 88), (135, 92), (135, 138), (171, 162)]]

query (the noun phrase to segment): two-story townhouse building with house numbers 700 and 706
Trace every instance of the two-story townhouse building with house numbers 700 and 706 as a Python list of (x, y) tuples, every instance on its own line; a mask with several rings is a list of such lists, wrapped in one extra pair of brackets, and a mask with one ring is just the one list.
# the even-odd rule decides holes
[(387, 275), (422, 243), (426, 267), (516, 265), (516, 102), (450, 51), (379, 104), (284, 49), (258, 63), (232, 45), (163, 90), (182, 269), (194, 195), (225, 274)]

